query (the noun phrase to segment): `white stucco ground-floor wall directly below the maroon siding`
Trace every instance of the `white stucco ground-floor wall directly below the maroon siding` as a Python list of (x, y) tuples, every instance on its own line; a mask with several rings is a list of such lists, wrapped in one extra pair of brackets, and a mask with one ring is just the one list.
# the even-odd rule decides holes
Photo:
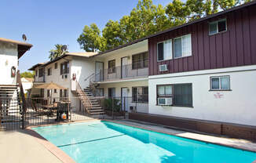
[[(232, 91), (209, 91), (211, 76), (230, 76)], [(150, 76), (150, 114), (256, 126), (256, 66)], [(156, 106), (156, 85), (192, 83), (193, 107)], [(214, 95), (221, 94), (221, 98)]]

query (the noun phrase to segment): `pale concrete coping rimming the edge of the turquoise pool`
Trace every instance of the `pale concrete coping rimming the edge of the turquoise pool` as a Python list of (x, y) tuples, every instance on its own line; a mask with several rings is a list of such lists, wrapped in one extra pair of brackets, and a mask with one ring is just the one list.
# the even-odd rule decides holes
[[(68, 154), (66, 154), (63, 150), (60, 150), (60, 148), (56, 147), (53, 143), (49, 142), (46, 138), (42, 137), (40, 134), (38, 134), (38, 132), (35, 132), (35, 130), (33, 130), (32, 128), (37, 128), (37, 127), (45, 127), (45, 126), (51, 126), (51, 125), (68, 125), (68, 124), (75, 124), (75, 123), (83, 123), (83, 122), (90, 122), (90, 121), (110, 121), (116, 124), (120, 124), (120, 125), (126, 125), (126, 126), (130, 126), (130, 127), (134, 127), (134, 128), (138, 128), (138, 129), (145, 129), (148, 131), (152, 131), (152, 132), (159, 132), (159, 133), (164, 133), (170, 136), (177, 136), (177, 137), (181, 137), (181, 138), (185, 138), (185, 139), (193, 139), (196, 141), (201, 141), (201, 142), (205, 142), (205, 143), (212, 143), (212, 144), (216, 144), (219, 146), (224, 146), (224, 147), (232, 147), (238, 150), (246, 150), (246, 151), (250, 151), (250, 152), (254, 152), (256, 153), (256, 149), (250, 149), (250, 147), (248, 148), (244, 148), (244, 147), (237, 147), (236, 145), (230, 145), (230, 144), (225, 144), (225, 143), (217, 143), (217, 142), (213, 142), (213, 141), (206, 141), (205, 139), (196, 139), (196, 138), (191, 138), (188, 136), (178, 136), (175, 134), (172, 134), (170, 132), (164, 132), (163, 130), (160, 129), (152, 129), (149, 126), (139, 126), (139, 125), (133, 125), (130, 123), (126, 123), (124, 121), (118, 121), (118, 120), (109, 120), (109, 119), (90, 119), (90, 120), (84, 120), (84, 121), (71, 121), (71, 122), (60, 122), (57, 124), (48, 124), (48, 125), (35, 125), (35, 126), (29, 126), (27, 127), (27, 132), (31, 135), (34, 136), (35, 139), (38, 141), (38, 143), (41, 143), (44, 147), (46, 147), (47, 150), (49, 150), (53, 155), (55, 155), (60, 161), (64, 162), (64, 163), (69, 163), (69, 162), (75, 162)], [(131, 121), (133, 123), (138, 123), (139, 122), (134, 122)], [(141, 124), (144, 125), (144, 124)], [(158, 126), (159, 128), (163, 128), (163, 126)], [(174, 129), (177, 131), (180, 131), (178, 129)], [(192, 132), (193, 133), (193, 132)], [(206, 135), (206, 134), (201, 134), (201, 135)], [(216, 137), (216, 136), (214, 136)], [(256, 160), (253, 161), (252, 163), (256, 163)]]

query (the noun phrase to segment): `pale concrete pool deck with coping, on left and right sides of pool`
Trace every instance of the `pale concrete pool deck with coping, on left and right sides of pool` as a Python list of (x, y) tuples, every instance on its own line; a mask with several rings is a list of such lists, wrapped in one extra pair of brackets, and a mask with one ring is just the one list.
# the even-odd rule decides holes
[[(113, 122), (123, 125), (130, 125), (141, 129), (148, 129), (155, 132), (181, 136), (188, 139), (197, 139), (208, 143), (215, 143), (256, 152), (256, 143), (252, 143), (251, 141), (245, 139), (231, 139), (227, 137), (210, 136), (204, 133), (186, 132), (143, 121), (115, 120)], [(75, 162), (68, 156), (68, 154), (65, 154), (62, 150), (55, 147), (52, 143), (42, 138), (42, 136), (38, 135), (37, 132), (34, 132), (31, 129), (0, 132), (0, 147), (1, 162)]]

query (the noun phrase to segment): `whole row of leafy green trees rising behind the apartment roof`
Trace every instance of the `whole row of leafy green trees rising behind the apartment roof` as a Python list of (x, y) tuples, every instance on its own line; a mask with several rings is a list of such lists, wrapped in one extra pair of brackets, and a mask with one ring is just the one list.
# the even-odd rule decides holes
[(152, 0), (139, 0), (129, 15), (119, 21), (108, 20), (101, 30), (96, 24), (85, 26), (77, 41), (86, 52), (104, 51), (166, 30), (203, 16), (230, 9), (252, 0), (173, 0), (166, 7)]

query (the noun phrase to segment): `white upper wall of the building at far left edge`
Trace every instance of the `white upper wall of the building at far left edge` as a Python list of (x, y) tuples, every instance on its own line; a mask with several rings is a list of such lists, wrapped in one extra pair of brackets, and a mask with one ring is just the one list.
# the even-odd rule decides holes
[(16, 85), (16, 78), (11, 77), (11, 68), (18, 70), (17, 45), (0, 42), (0, 85)]

